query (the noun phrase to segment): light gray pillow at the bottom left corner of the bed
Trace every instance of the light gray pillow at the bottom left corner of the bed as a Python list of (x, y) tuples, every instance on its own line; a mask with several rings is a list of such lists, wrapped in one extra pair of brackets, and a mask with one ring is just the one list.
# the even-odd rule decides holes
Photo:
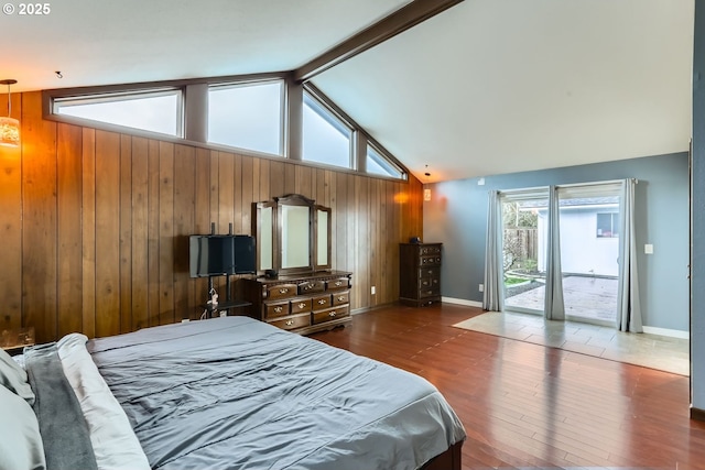
[(32, 407), (0, 386), (0, 470), (44, 470), (40, 424)]

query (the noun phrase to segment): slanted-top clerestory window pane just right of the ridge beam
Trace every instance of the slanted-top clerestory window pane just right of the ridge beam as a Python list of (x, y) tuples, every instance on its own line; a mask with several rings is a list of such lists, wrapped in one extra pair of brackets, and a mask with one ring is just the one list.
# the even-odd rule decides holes
[(304, 92), (303, 160), (350, 168), (351, 140), (352, 129)]

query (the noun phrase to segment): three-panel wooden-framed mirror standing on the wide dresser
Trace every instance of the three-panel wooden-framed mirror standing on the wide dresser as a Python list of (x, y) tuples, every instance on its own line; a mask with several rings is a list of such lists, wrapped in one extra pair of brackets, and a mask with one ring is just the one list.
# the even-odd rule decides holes
[(252, 212), (260, 274), (330, 269), (330, 208), (294, 194), (256, 203)]

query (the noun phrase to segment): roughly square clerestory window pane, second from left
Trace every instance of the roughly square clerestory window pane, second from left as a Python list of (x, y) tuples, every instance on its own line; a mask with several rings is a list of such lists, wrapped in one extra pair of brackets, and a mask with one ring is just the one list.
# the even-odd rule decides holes
[(282, 155), (283, 83), (208, 90), (208, 142)]

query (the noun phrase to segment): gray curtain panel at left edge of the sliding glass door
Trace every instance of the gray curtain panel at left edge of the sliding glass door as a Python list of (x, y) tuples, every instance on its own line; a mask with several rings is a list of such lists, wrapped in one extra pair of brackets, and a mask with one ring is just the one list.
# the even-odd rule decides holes
[(502, 311), (502, 206), (499, 192), (490, 190), (487, 206), (487, 242), (485, 243), (485, 293), (482, 308)]

